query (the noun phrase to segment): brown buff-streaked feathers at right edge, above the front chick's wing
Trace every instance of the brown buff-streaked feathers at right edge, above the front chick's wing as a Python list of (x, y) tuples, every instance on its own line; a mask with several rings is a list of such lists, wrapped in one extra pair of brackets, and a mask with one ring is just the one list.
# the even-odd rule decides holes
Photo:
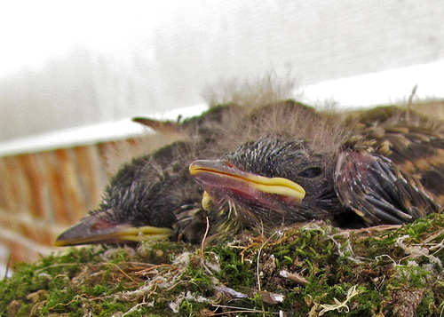
[(376, 107), (353, 117), (360, 137), (345, 148), (385, 155), (444, 205), (444, 124), (439, 119), (410, 107)]

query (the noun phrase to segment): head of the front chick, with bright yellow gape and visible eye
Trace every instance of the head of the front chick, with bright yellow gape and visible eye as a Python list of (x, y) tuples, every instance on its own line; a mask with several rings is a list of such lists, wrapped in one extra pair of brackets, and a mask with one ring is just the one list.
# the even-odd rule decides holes
[(218, 160), (198, 160), (190, 172), (205, 190), (202, 207), (216, 213), (218, 231), (279, 227), (341, 212), (329, 154), (302, 140), (269, 136)]

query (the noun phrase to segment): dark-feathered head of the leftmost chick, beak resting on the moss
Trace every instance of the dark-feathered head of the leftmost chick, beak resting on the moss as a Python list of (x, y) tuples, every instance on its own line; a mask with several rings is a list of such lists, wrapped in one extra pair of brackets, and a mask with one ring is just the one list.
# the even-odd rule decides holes
[(105, 188), (99, 209), (60, 234), (55, 245), (169, 238), (176, 214), (202, 196), (187, 171), (192, 148), (178, 141), (124, 164)]

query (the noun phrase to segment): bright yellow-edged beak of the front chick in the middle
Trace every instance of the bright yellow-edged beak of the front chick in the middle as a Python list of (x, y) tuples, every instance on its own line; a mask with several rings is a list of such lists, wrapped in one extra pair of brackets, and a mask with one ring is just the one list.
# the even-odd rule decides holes
[(195, 161), (189, 170), (210, 196), (211, 190), (218, 188), (248, 197), (270, 209), (274, 209), (277, 202), (300, 202), (305, 197), (304, 188), (287, 178), (266, 178), (223, 160)]

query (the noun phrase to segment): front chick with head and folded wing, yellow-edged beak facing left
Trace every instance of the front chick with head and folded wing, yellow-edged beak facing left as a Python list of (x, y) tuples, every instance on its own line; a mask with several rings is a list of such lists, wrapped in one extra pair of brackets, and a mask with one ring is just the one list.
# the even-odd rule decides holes
[(369, 148), (316, 153), (303, 140), (266, 137), (190, 172), (217, 230), (275, 229), (312, 219), (335, 226), (402, 224), (438, 212), (436, 197)]

